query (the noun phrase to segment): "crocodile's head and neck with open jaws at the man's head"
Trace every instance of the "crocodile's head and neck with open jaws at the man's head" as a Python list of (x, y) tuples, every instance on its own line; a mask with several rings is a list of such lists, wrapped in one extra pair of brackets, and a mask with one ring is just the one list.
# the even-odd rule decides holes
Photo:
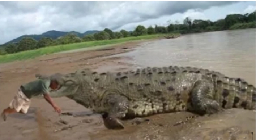
[(97, 80), (97, 76), (99, 76), (95, 73), (83, 69), (69, 74), (55, 73), (50, 76), (36, 74), (36, 77), (41, 79), (49, 78), (59, 83), (59, 89), (50, 91), (51, 97), (66, 96), (86, 108), (99, 111), (104, 110), (104, 108), (98, 107), (101, 104), (104, 90), (95, 88), (95, 79)]

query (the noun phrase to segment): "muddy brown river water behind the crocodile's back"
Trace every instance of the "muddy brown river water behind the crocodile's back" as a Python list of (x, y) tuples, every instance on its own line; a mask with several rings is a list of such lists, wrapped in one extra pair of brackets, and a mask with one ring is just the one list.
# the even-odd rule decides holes
[(132, 57), (145, 66), (192, 66), (242, 77), (255, 85), (255, 29), (185, 35), (141, 44), (135, 51), (117, 56)]

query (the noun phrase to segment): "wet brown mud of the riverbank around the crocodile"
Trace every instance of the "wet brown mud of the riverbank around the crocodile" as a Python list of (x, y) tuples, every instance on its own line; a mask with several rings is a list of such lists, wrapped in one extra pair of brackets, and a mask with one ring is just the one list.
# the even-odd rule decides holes
[[(45, 55), (24, 62), (0, 64), (0, 109), (9, 104), (17, 88), (35, 79), (36, 73), (69, 73), (78, 68), (95, 71), (123, 71), (134, 66), (130, 57), (108, 57), (132, 51), (145, 41), (129, 42), (102, 50)], [(196, 117), (189, 112), (159, 114), (147, 117), (139, 125), (125, 121), (124, 130), (108, 130), (101, 116), (68, 98), (54, 98), (62, 112), (59, 116), (44, 99), (32, 99), (27, 114), (13, 114), (0, 121), (0, 140), (252, 140), (255, 132), (255, 112), (230, 109), (209, 117)], [(255, 139), (255, 133), (253, 134)]]

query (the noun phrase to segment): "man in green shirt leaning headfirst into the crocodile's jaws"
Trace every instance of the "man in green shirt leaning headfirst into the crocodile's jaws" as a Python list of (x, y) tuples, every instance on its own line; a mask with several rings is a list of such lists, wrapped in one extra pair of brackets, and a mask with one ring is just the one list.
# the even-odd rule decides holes
[(10, 102), (9, 107), (4, 109), (1, 113), (1, 118), (6, 121), (8, 114), (26, 114), (31, 103), (30, 99), (41, 94), (43, 94), (44, 99), (49, 104), (51, 104), (57, 113), (61, 113), (61, 109), (53, 102), (52, 98), (49, 96), (49, 88), (52, 90), (57, 90), (60, 88), (60, 84), (57, 78), (38, 78), (35, 81), (20, 86), (18, 92)]

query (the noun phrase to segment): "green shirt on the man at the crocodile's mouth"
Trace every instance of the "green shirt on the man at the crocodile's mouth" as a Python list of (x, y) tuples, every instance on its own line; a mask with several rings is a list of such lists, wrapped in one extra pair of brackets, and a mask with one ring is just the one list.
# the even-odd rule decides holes
[(23, 88), (21, 90), (30, 99), (40, 94), (48, 94), (50, 83), (51, 81), (48, 79), (37, 79), (22, 85)]

